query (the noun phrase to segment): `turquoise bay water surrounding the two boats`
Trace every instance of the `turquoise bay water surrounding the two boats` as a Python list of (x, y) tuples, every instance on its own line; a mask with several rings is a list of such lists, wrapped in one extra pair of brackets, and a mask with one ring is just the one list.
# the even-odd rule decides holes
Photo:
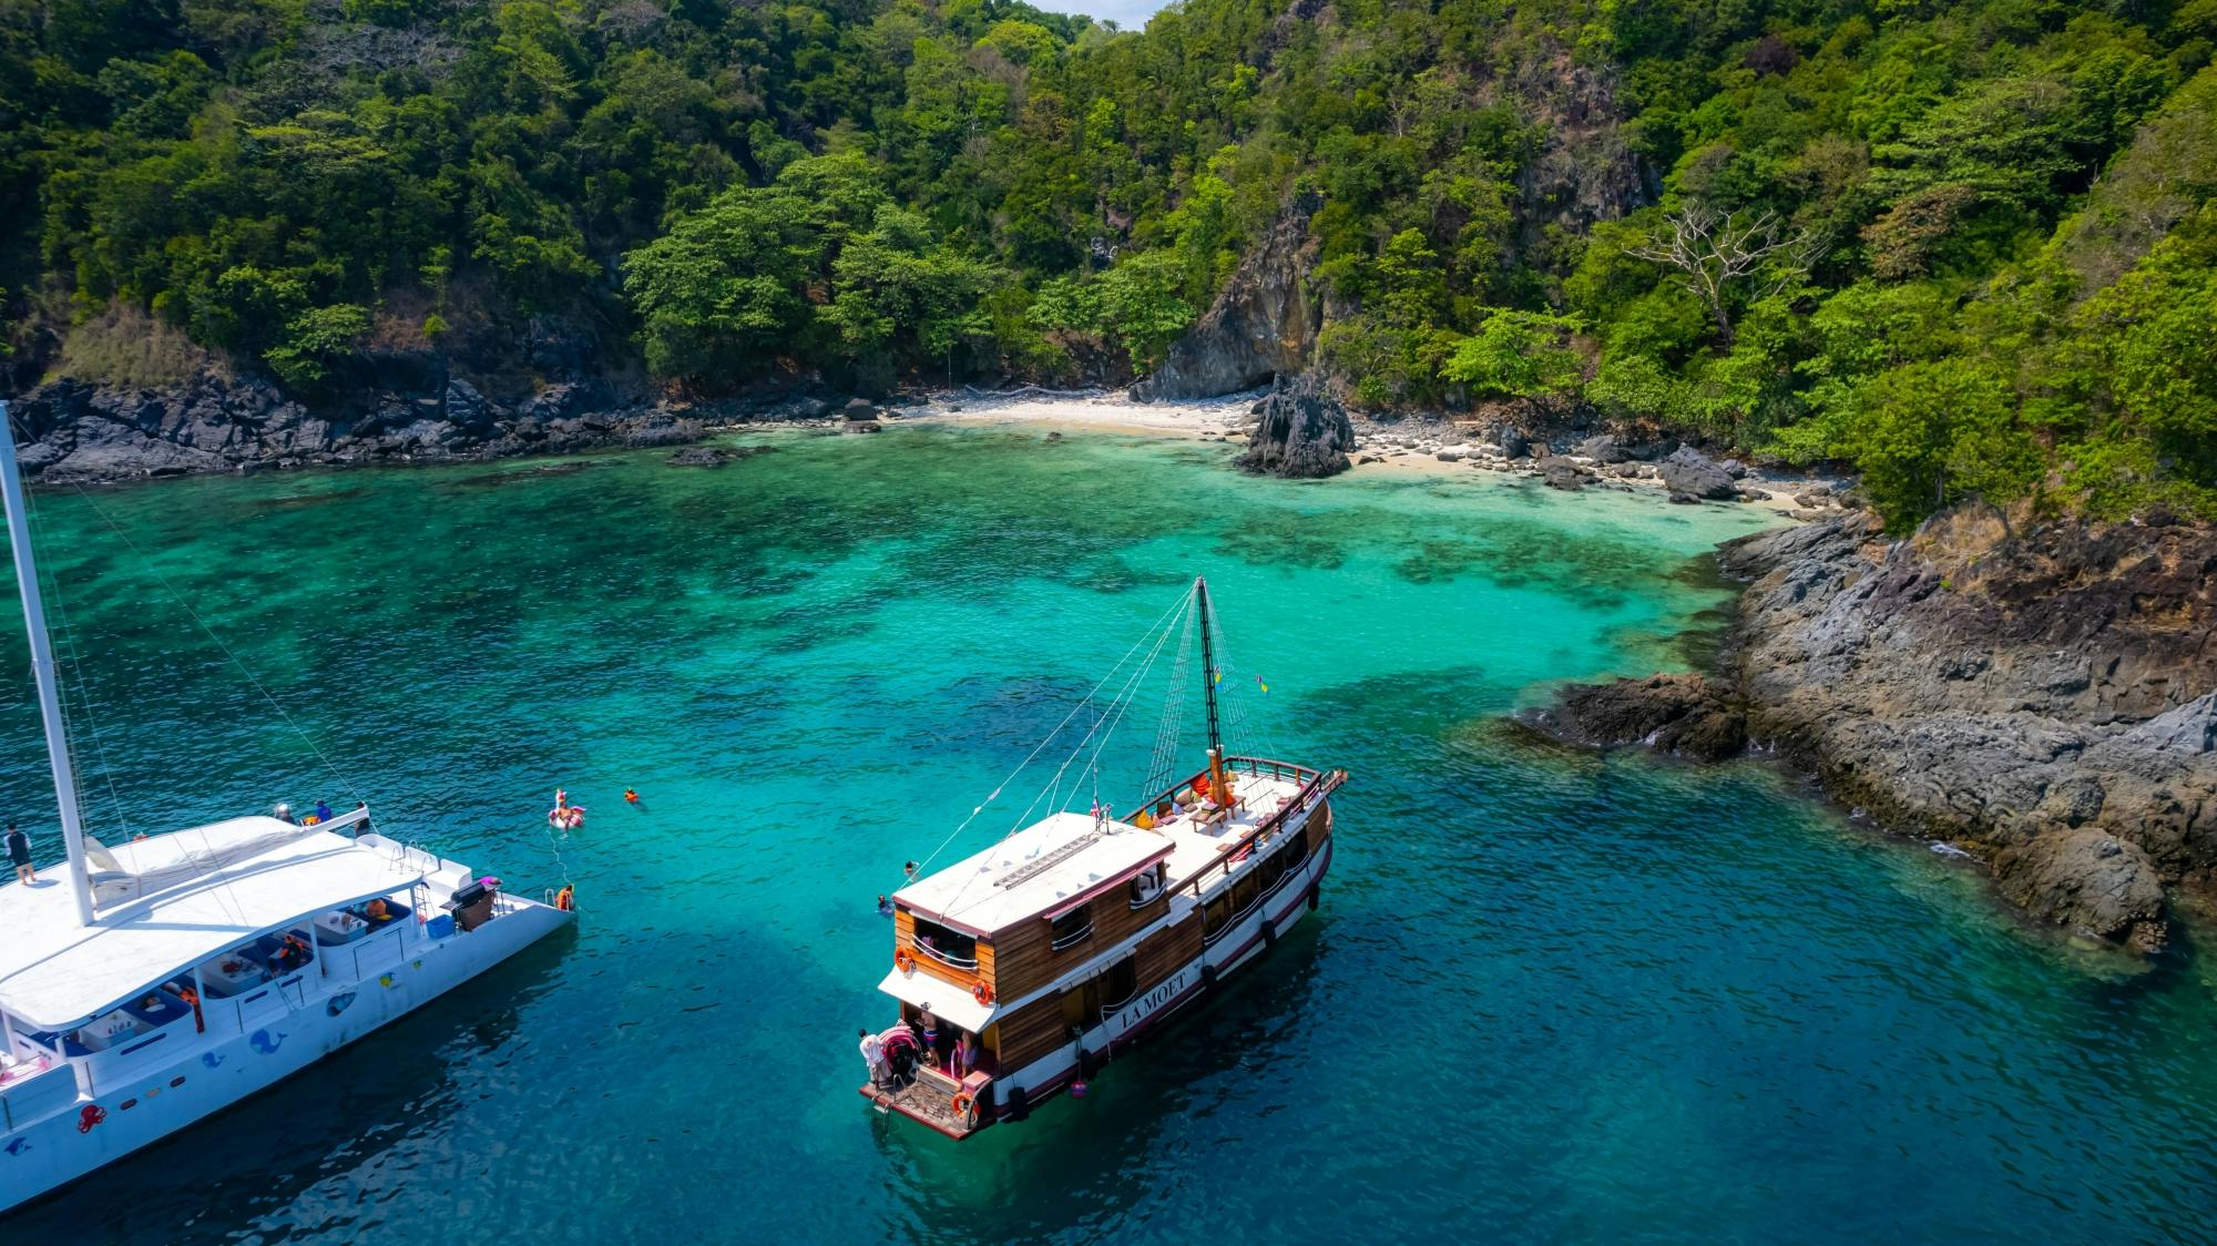
[[(40, 499), (95, 834), (359, 794), (585, 911), (7, 1239), (2208, 1235), (2197, 960), (2080, 958), (1758, 765), (1496, 727), (1692, 661), (1725, 601), (1698, 554), (1749, 510), (1108, 437), (776, 446)], [(876, 893), (1193, 574), (1233, 745), (1352, 772), (1319, 913), (1086, 1100), (960, 1146), (878, 1117)], [(51, 858), (0, 643), (0, 803)], [(1153, 703), (1131, 723), (1117, 805)], [(556, 785), (592, 809), (559, 856)]]

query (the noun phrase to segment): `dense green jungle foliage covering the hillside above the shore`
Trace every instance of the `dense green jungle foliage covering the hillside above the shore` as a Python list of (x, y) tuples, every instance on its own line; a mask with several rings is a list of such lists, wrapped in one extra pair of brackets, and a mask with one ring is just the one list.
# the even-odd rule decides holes
[[(18, 361), (1146, 370), (1299, 204), (1370, 408), (2217, 514), (2217, 0), (0, 0)], [(494, 346), (486, 346), (494, 344)], [(488, 364), (490, 366), (490, 364)]]

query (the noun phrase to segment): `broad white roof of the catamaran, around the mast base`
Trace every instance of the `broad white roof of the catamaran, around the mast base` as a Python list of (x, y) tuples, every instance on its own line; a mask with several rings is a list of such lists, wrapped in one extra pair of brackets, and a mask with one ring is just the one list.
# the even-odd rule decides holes
[[(126, 871), (175, 880), (78, 925), (73, 867), (0, 887), (0, 1011), (69, 1029), (259, 931), (412, 887), (423, 871), (346, 836), (279, 818), (111, 845)], [(219, 862), (193, 871), (193, 862)], [(100, 874), (95, 871), (95, 878)]]

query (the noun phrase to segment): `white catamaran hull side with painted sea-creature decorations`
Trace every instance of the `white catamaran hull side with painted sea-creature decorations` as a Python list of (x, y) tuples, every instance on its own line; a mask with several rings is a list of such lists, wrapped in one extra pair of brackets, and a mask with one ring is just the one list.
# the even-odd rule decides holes
[[(474, 931), (408, 922), (262, 991), (206, 1000), (206, 1031), (173, 1027), (98, 1064), (0, 1091), (0, 1213), (255, 1095), (561, 929), (574, 913), (503, 896)], [(390, 940), (390, 947), (384, 942)], [(335, 956), (353, 951), (353, 956)], [(171, 1049), (171, 1051), (162, 1051)]]

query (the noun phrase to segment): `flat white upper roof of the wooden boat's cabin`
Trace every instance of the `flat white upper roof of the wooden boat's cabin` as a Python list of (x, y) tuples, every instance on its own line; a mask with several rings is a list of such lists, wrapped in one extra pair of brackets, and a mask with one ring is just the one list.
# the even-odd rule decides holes
[(893, 902), (975, 933), (993, 933), (1084, 898), (1151, 860), (1166, 836), (1086, 814), (1051, 814), (998, 845), (918, 878)]

